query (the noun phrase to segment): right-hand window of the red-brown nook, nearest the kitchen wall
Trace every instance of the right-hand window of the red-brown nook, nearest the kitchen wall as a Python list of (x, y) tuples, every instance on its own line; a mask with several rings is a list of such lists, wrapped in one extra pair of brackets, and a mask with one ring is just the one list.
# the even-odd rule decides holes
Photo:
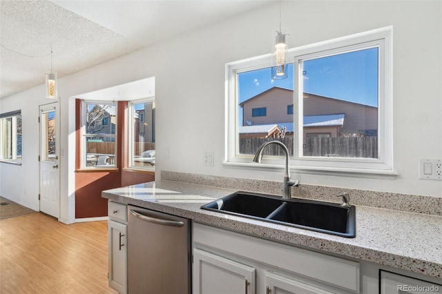
[(129, 166), (155, 170), (155, 101), (135, 101), (130, 108)]

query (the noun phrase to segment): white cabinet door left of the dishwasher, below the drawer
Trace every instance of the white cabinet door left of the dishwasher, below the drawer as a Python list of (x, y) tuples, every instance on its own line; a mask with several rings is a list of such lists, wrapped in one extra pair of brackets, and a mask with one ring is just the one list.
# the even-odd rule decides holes
[(109, 286), (126, 294), (126, 224), (108, 220)]

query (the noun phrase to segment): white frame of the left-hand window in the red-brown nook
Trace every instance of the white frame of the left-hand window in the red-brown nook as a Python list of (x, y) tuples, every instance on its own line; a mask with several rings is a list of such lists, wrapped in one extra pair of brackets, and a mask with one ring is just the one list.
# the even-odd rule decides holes
[[(108, 166), (87, 166), (86, 162), (86, 137), (90, 137), (90, 134), (86, 134), (86, 104), (111, 104), (115, 105), (115, 117), (118, 118), (118, 104), (115, 101), (95, 101), (95, 100), (82, 100), (81, 101), (81, 161), (80, 161), (80, 168), (82, 170), (87, 169), (103, 169), (103, 168), (116, 168), (117, 167), (117, 135), (118, 135), (118, 119), (115, 119), (115, 135), (111, 134), (101, 134), (99, 137), (109, 137), (109, 138), (115, 138), (115, 150), (114, 150), (114, 157), (115, 157), (115, 164), (109, 164)], [(112, 122), (111, 122), (112, 124)]]

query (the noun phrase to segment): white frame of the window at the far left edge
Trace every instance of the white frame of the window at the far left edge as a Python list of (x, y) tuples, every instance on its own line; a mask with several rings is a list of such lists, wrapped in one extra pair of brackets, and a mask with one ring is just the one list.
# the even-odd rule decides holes
[[(17, 117), (21, 117), (21, 155), (18, 155), (18, 140), (17, 140)], [(11, 148), (12, 158), (5, 158), (4, 155), (4, 139), (3, 136), (6, 134), (4, 133), (5, 126), (3, 126), (5, 119), (11, 119), (11, 139), (10, 139), (10, 145), (8, 148)], [(5, 112), (0, 114), (0, 137), (1, 137), (1, 144), (0, 144), (0, 162), (5, 162), (8, 164), (17, 164), (21, 165), (21, 159), (23, 157), (23, 117), (21, 115), (21, 110), (11, 111), (11, 112)]]

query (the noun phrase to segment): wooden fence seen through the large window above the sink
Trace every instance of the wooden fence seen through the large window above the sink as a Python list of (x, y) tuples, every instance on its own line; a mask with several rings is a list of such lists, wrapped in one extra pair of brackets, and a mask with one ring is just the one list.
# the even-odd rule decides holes
[[(289, 149), (290, 156), (293, 156), (293, 137), (284, 139), (262, 139), (243, 138), (240, 139), (240, 154), (255, 154), (261, 144), (266, 141), (281, 141)], [(377, 137), (329, 137), (329, 138), (304, 138), (304, 156), (322, 157), (358, 157), (378, 158)], [(269, 145), (264, 150), (265, 155), (283, 155), (282, 148), (276, 145)]]

